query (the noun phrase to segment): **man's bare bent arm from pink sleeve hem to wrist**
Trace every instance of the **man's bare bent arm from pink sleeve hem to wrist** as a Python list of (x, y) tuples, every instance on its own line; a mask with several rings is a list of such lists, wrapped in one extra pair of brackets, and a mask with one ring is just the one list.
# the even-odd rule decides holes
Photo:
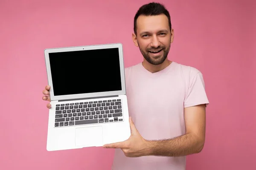
[(174, 139), (146, 141), (145, 155), (186, 156), (199, 153), (205, 139), (205, 105), (184, 109), (186, 134)]

